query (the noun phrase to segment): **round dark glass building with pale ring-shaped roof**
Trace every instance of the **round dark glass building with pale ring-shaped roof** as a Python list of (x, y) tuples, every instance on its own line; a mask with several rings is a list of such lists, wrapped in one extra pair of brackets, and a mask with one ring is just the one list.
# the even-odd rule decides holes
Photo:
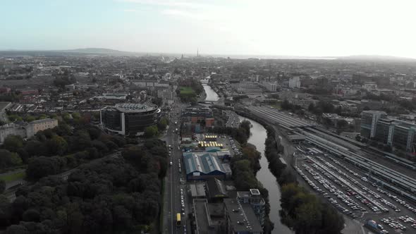
[(104, 130), (121, 135), (139, 135), (159, 123), (161, 110), (154, 104), (116, 104), (100, 111)]

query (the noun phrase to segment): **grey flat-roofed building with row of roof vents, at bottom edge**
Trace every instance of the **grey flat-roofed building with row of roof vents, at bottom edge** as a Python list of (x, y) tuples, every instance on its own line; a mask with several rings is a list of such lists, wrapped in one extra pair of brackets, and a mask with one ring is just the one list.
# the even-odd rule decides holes
[(262, 226), (248, 203), (239, 199), (224, 199), (226, 213), (226, 233), (230, 234), (261, 234)]

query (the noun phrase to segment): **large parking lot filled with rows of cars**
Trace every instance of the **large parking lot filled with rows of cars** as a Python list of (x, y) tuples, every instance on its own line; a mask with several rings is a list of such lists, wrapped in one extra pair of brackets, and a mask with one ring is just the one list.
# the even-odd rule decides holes
[(340, 213), (360, 223), (372, 219), (385, 233), (416, 233), (416, 208), (359, 168), (330, 154), (297, 155), (295, 170)]

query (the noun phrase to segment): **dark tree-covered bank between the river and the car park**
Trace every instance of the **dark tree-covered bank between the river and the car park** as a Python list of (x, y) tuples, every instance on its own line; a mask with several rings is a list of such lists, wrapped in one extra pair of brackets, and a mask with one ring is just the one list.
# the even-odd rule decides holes
[[(250, 116), (250, 113), (243, 112), (243, 116)], [(267, 132), (264, 155), (268, 161), (269, 171), (281, 186), (282, 193), (279, 193), (281, 222), (288, 224), (297, 233), (322, 231), (341, 233), (344, 227), (343, 216), (340, 216), (334, 207), (330, 207), (319, 197), (298, 185), (290, 164), (286, 165), (279, 159), (281, 157), (279, 153), (284, 152), (284, 149), (281, 147), (280, 139), (276, 137), (274, 126), (263, 120), (260, 122), (264, 123), (264, 132)]]

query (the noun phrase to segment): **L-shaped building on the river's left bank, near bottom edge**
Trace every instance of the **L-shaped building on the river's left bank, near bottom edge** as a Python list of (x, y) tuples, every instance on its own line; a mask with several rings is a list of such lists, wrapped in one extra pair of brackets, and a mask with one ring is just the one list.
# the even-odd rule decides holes
[(260, 195), (259, 190), (250, 189), (249, 192), (237, 192), (237, 199), (240, 204), (250, 204), (260, 225), (264, 227), (266, 217), (266, 202)]

